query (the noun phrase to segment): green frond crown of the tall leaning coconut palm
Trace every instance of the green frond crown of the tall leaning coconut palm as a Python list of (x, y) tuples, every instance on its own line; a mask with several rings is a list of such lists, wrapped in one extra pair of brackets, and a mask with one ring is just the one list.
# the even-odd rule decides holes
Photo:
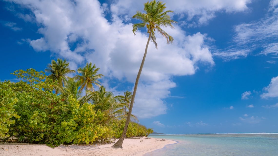
[(144, 10), (146, 13), (142, 13), (140, 11), (137, 11), (136, 14), (132, 17), (135, 19), (139, 19), (142, 21), (142, 23), (136, 23), (133, 24), (133, 33), (138, 31), (138, 28), (144, 28), (147, 27), (148, 33), (150, 34), (151, 41), (155, 44), (155, 47), (157, 49), (157, 42), (155, 38), (155, 30), (157, 29), (157, 32), (161, 34), (163, 37), (167, 39), (167, 44), (171, 44), (173, 42), (173, 37), (167, 34), (164, 30), (162, 30), (160, 27), (171, 27), (174, 29), (175, 27), (172, 26), (172, 23), (177, 23), (176, 21), (173, 21), (170, 19), (170, 16), (167, 15), (168, 12), (173, 12), (172, 10), (164, 11), (166, 8), (165, 3), (158, 1), (156, 2), (151, 1), (144, 4)]

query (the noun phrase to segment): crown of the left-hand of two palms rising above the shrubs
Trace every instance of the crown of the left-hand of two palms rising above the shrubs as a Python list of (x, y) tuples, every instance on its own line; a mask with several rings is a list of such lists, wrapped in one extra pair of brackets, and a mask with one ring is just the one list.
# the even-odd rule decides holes
[(57, 59), (57, 61), (52, 60), (51, 64), (47, 65), (45, 71), (50, 73), (47, 78), (52, 79), (53, 82), (56, 80), (57, 83), (62, 86), (64, 81), (68, 78), (66, 75), (75, 72), (69, 69), (69, 62), (66, 60), (63, 61), (62, 59)]

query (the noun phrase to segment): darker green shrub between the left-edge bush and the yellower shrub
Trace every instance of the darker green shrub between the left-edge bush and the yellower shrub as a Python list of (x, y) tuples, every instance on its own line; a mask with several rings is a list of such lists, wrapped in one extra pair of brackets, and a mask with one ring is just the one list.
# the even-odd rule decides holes
[(49, 131), (55, 122), (53, 105), (59, 105), (60, 98), (52, 92), (33, 88), (27, 82), (7, 83), (17, 93), (14, 109), (21, 116), (11, 126), (9, 134), (19, 142), (45, 143), (51, 137)]

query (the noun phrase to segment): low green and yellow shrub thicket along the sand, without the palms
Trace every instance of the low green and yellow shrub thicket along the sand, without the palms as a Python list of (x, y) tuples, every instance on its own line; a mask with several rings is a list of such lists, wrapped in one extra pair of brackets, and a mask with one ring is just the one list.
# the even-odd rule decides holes
[[(14, 73), (24, 81), (0, 82), (0, 140), (60, 144), (92, 144), (120, 137), (125, 120), (113, 118), (109, 111), (94, 104), (80, 106), (73, 95), (66, 99), (53, 93), (56, 82), (44, 80), (34, 69)], [(130, 122), (127, 137), (147, 136), (145, 126)]]

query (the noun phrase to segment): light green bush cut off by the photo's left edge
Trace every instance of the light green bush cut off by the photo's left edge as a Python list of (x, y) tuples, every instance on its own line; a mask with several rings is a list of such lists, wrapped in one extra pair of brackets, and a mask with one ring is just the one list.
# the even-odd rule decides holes
[(0, 137), (9, 137), (9, 126), (15, 123), (12, 117), (19, 118), (13, 109), (17, 102), (16, 94), (7, 85), (0, 86)]

